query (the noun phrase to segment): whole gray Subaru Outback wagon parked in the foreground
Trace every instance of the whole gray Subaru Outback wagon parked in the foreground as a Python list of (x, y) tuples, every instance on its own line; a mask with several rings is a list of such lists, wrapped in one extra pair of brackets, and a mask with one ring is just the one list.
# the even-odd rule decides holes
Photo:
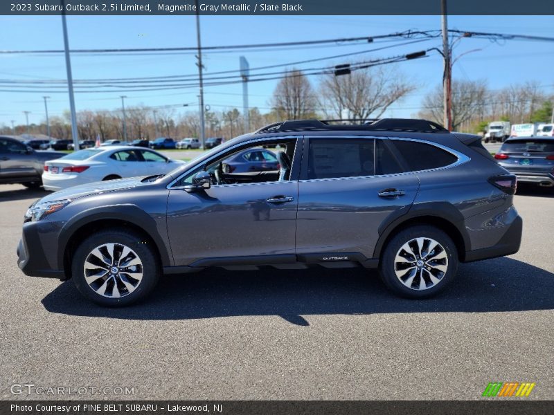
[[(253, 148), (271, 148), (276, 169), (226, 167)], [(18, 264), (26, 275), (71, 278), (106, 306), (143, 299), (163, 274), (211, 266), (378, 268), (397, 295), (429, 297), (459, 262), (519, 250), (515, 189), (481, 137), (434, 122), (279, 122), (169, 174), (36, 201)]]

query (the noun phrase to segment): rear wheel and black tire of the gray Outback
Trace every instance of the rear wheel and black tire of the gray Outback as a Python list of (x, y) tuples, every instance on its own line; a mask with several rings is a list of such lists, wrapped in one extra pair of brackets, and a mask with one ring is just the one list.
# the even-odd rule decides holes
[[(418, 238), (423, 239), (422, 252), (418, 252)], [(431, 240), (438, 242), (438, 246), (435, 250), (427, 252), (426, 248), (434, 243)], [(409, 243), (409, 247), (413, 246), (412, 252), (417, 252), (420, 255), (414, 256), (405, 250), (401, 250), (406, 243)], [(415, 243), (415, 246), (413, 243)], [(445, 232), (431, 225), (415, 225), (401, 230), (388, 241), (383, 252), (381, 261), (379, 261), (379, 273), (384, 284), (401, 297), (413, 299), (432, 297), (443, 291), (452, 282), (458, 270), (456, 245)], [(397, 254), (402, 257), (399, 261), (396, 261)], [(419, 263), (420, 267), (418, 267), (418, 260), (422, 257), (425, 259), (429, 255), (440, 259), (431, 258), (421, 261)], [(412, 259), (415, 260), (411, 262)], [(402, 262), (404, 260), (406, 262)], [(413, 269), (415, 269), (415, 276), (411, 277)], [(406, 271), (405, 274), (404, 270)], [(421, 275), (423, 275), (423, 285), (420, 285)], [(431, 277), (434, 279), (431, 279)], [(437, 280), (438, 282), (436, 282)], [(423, 286), (425, 288), (422, 288)]]

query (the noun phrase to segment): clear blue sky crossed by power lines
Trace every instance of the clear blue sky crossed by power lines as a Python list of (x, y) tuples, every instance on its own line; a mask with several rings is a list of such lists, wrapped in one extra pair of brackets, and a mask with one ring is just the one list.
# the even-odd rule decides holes
[[(110, 16), (67, 17), (70, 48), (150, 48), (195, 46), (195, 17), (193, 16)], [(495, 33), (517, 33), (554, 37), (552, 16), (451, 16), (449, 28)], [(440, 16), (203, 16), (201, 17), (203, 46), (249, 44), (266, 42), (296, 42), (337, 37), (374, 36), (408, 29), (440, 28)], [(62, 49), (62, 25), (59, 16), (0, 17), (3, 36), (0, 50)], [(239, 56), (244, 55), (251, 67), (285, 64), (357, 52), (388, 44), (360, 43), (349, 46), (317, 46), (274, 51), (205, 53), (206, 76), (215, 71), (238, 69)], [(434, 46), (440, 39), (367, 53), (354, 57), (363, 59), (411, 53)], [(490, 42), (486, 39), (462, 39), (454, 55), (476, 50), (461, 57), (454, 66), (454, 78), (488, 80), (491, 89), (508, 84), (536, 80), (548, 93), (554, 91), (554, 42)], [(195, 57), (186, 55), (143, 56), (82, 56), (73, 55), (73, 78), (93, 79), (110, 77), (152, 77), (196, 73)], [(315, 66), (341, 64), (346, 59), (331, 59)], [(314, 64), (298, 68), (314, 67)], [(441, 82), (443, 66), (438, 54), (425, 59), (397, 64), (397, 70), (418, 84), (418, 89), (397, 102), (386, 116), (409, 117), (418, 112), (423, 96)], [(0, 55), (0, 78), (3, 80), (57, 79), (66, 77), (63, 55)], [(317, 86), (317, 78), (311, 78)], [(269, 100), (278, 81), (249, 84), (250, 107), (269, 111)], [(213, 110), (242, 108), (242, 86), (209, 86), (205, 102)], [(176, 114), (197, 109), (197, 89), (125, 93), (126, 105), (144, 104), (157, 107), (168, 104), (190, 104), (176, 109)], [(49, 95), (48, 111), (60, 116), (69, 109), (64, 93), (6, 93), (0, 92), (0, 124), (24, 124), (23, 111), (30, 111), (30, 122), (44, 120), (42, 95)], [(120, 108), (122, 93), (75, 94), (77, 110)]]

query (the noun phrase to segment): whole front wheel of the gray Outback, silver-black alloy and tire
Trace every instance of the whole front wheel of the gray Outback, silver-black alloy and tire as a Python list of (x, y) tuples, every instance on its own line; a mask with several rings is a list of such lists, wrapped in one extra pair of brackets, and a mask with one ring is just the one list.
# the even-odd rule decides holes
[(72, 275), (80, 293), (93, 302), (124, 306), (152, 291), (160, 275), (158, 264), (148, 241), (139, 234), (102, 231), (79, 246)]

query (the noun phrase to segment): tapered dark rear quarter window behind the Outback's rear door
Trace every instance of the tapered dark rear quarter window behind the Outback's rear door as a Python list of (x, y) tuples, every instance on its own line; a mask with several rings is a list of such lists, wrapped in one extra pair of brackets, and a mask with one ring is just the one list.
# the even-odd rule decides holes
[(456, 163), (458, 158), (434, 145), (408, 140), (391, 140), (411, 172), (437, 169)]

